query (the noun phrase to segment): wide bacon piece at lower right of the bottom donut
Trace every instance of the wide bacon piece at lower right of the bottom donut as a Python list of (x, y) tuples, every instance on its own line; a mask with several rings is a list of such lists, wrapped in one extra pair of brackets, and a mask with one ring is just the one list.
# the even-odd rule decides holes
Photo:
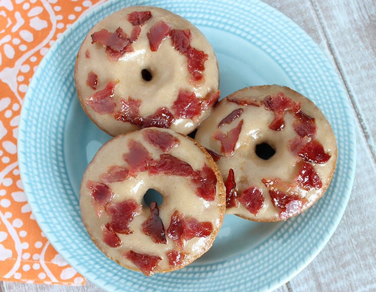
[(171, 216), (167, 236), (183, 248), (185, 242), (194, 237), (207, 237), (213, 232), (211, 222), (199, 222), (196, 218), (185, 218), (176, 210)]

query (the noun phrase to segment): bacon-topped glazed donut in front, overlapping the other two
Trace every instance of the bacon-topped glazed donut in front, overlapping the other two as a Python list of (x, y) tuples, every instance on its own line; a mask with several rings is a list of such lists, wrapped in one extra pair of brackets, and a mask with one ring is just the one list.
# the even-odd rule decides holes
[[(148, 206), (150, 191), (162, 203)], [(84, 172), (79, 202), (97, 247), (150, 276), (183, 268), (209, 250), (222, 225), (225, 190), (212, 157), (196, 141), (149, 127), (101, 147)]]

